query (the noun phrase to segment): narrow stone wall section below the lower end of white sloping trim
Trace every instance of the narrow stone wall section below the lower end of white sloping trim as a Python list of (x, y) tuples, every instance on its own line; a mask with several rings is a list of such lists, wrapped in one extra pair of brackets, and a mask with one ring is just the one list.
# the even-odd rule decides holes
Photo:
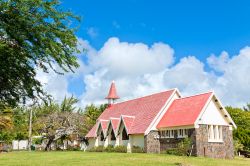
[(144, 150), (146, 153), (160, 153), (159, 132), (150, 131), (144, 136)]

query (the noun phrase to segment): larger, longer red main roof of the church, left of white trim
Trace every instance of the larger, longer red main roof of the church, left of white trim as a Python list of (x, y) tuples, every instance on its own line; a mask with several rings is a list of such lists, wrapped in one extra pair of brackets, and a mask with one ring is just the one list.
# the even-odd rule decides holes
[[(125, 120), (125, 123), (130, 126), (129, 134), (143, 134), (174, 91), (175, 90), (169, 90), (113, 104), (100, 115), (98, 120), (109, 120), (111, 117), (121, 118), (122, 115), (134, 116), (133, 123), (130, 123), (129, 120)], [(93, 128), (96, 128), (96, 125)], [(92, 131), (96, 129), (93, 128), (86, 137), (96, 137)]]

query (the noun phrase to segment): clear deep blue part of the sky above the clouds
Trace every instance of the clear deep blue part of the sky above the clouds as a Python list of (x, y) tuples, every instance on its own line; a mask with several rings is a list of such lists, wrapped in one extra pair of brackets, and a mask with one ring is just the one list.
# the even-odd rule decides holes
[[(83, 18), (78, 36), (95, 48), (113, 36), (121, 41), (168, 43), (176, 57), (200, 60), (250, 43), (250, 1), (210, 0), (63, 0), (63, 7)], [(95, 37), (87, 34), (94, 28)]]

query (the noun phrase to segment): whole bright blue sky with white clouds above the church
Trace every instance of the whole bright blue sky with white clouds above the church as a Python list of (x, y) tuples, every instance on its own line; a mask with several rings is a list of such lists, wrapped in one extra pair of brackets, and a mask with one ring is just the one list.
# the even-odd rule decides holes
[(120, 101), (178, 88), (214, 91), (224, 105), (250, 102), (250, 1), (61, 0), (80, 16), (80, 68), (37, 78), (57, 101), (105, 102), (115, 80)]

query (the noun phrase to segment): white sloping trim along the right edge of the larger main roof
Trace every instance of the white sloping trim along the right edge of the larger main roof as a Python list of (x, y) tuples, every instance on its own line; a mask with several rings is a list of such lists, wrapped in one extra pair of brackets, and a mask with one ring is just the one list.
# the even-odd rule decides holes
[(159, 123), (159, 121), (161, 120), (161, 118), (164, 116), (164, 114), (166, 113), (166, 111), (168, 110), (168, 108), (170, 107), (170, 105), (172, 104), (172, 101), (170, 103), (170, 101), (172, 100), (172, 98), (174, 97), (175, 94), (178, 95), (178, 97), (181, 97), (180, 92), (177, 88), (173, 89), (174, 91), (172, 92), (172, 94), (170, 95), (170, 97), (167, 99), (167, 101), (165, 102), (165, 104), (163, 105), (163, 107), (160, 109), (160, 111), (158, 112), (158, 114), (155, 116), (155, 118), (153, 119), (153, 121), (150, 123), (150, 125), (148, 126), (148, 128), (146, 129), (144, 135), (147, 135), (153, 127), (156, 128), (156, 125)]

